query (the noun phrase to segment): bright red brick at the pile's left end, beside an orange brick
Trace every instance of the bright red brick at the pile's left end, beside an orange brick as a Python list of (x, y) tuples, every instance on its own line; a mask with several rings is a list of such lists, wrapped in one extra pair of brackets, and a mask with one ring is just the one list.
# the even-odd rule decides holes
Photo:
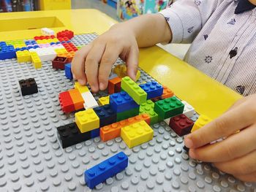
[(59, 93), (59, 102), (61, 104), (61, 110), (63, 112), (75, 111), (75, 105), (73, 104), (69, 91)]

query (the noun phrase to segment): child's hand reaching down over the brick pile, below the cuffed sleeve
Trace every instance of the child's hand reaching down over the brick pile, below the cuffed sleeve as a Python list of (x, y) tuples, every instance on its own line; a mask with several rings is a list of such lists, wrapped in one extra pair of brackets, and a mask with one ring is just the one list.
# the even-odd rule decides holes
[(116, 24), (75, 53), (72, 74), (82, 85), (89, 82), (93, 92), (105, 90), (112, 65), (118, 56), (127, 63), (127, 74), (135, 80), (138, 54), (135, 34), (122, 23)]

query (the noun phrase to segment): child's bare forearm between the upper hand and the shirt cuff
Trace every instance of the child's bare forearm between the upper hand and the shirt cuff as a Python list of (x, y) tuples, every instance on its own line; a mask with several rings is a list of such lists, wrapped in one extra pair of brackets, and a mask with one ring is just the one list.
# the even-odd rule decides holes
[(172, 39), (170, 28), (160, 14), (141, 15), (124, 23), (118, 23), (113, 28), (119, 26), (135, 34), (138, 47), (149, 47), (159, 42), (169, 42)]

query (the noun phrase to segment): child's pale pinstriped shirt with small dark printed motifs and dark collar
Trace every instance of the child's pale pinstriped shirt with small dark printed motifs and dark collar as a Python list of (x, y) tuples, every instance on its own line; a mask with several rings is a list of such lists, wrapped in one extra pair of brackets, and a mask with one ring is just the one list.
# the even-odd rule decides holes
[(256, 93), (256, 8), (235, 14), (238, 1), (179, 0), (160, 13), (173, 43), (192, 43), (187, 63), (247, 96)]

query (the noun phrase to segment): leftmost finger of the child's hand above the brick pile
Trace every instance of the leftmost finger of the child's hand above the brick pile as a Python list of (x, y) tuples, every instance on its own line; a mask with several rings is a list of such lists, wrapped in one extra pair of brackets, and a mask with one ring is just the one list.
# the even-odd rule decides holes
[(82, 47), (80, 50), (75, 52), (75, 57), (72, 59), (71, 71), (76, 80), (80, 82), (81, 85), (85, 85), (87, 82), (85, 74), (85, 61), (86, 56), (91, 50), (91, 44)]

